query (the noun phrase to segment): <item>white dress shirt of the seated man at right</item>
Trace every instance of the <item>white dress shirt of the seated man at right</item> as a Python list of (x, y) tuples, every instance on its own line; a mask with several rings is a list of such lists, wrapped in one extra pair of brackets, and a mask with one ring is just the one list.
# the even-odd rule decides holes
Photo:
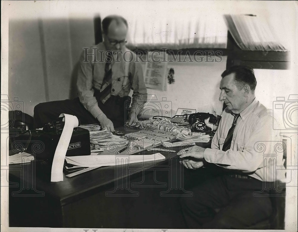
[(221, 149), (233, 119), (231, 110), (226, 108), (212, 139), (211, 149), (204, 151), (205, 160), (258, 180), (285, 182), (282, 138), (279, 130), (273, 129), (275, 119), (268, 109), (254, 99), (240, 112), (231, 148), (224, 152)]

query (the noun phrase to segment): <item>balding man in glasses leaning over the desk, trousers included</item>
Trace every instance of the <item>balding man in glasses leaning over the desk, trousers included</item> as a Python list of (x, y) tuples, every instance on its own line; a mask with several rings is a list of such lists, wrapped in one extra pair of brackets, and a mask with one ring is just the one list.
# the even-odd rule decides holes
[[(136, 54), (126, 48), (127, 21), (110, 15), (103, 19), (103, 43), (84, 49), (77, 74), (78, 97), (44, 102), (34, 108), (34, 128), (55, 120), (61, 113), (77, 116), (82, 124), (114, 127), (131, 124), (146, 102), (147, 89)], [(92, 54), (92, 55), (90, 55)], [(133, 98), (128, 96), (131, 89)], [(142, 97), (141, 97), (142, 96)], [(131, 102), (131, 108), (128, 108)]]

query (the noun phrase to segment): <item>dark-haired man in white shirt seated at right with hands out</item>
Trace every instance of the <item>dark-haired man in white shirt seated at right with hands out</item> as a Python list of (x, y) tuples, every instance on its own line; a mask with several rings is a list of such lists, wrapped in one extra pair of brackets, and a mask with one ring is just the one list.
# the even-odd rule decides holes
[(192, 197), (181, 198), (189, 228), (244, 229), (267, 219), (272, 205), (264, 186), (285, 178), (285, 172), (276, 172), (277, 166), (284, 168), (282, 139), (267, 108), (255, 99), (254, 71), (233, 66), (221, 76), (219, 100), (227, 107), (211, 148), (178, 152), (188, 169), (202, 167), (203, 160), (223, 169), (223, 175), (191, 189)]

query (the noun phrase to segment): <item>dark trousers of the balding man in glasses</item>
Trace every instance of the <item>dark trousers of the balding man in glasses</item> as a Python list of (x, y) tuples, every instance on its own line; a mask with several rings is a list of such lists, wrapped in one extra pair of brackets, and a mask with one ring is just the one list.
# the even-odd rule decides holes
[[(94, 94), (94, 96), (96, 95)], [(97, 96), (96, 98), (99, 108), (108, 119), (113, 122), (114, 127), (123, 126), (125, 120), (128, 119), (128, 107), (131, 98), (129, 96), (111, 96), (105, 104), (103, 104)], [(77, 97), (72, 100), (66, 99), (62, 101), (44, 102), (36, 105), (34, 108), (33, 127), (44, 127), (46, 123), (56, 120), (61, 113), (77, 116), (81, 124), (99, 123), (98, 120), (85, 109)]]

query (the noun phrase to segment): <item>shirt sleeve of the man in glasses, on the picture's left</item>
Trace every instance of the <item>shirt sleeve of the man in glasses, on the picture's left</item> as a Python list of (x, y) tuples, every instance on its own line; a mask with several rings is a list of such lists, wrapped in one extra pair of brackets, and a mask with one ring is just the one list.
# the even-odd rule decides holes
[(98, 107), (98, 103), (94, 95), (93, 90), (93, 72), (92, 72), (92, 60), (85, 61), (85, 52), (83, 51), (78, 67), (77, 74), (77, 90), (80, 102), (88, 110), (94, 118), (103, 113), (103, 111)]

